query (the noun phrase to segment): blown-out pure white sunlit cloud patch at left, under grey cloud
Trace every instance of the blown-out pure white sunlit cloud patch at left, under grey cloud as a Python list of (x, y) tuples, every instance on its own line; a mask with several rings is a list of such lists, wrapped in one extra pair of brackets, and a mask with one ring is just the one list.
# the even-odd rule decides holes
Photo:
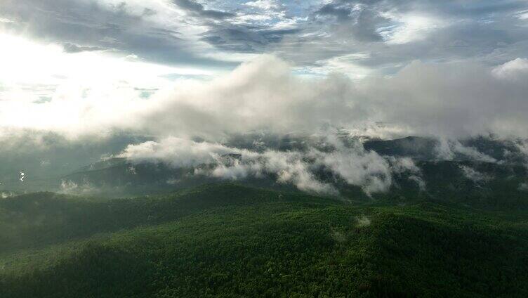
[[(128, 82), (135, 87), (152, 88), (170, 83), (160, 77), (162, 74), (211, 74), (208, 70), (193, 67), (143, 63), (132, 53), (65, 53), (59, 44), (40, 44), (1, 32), (0, 44), (0, 82), (14, 86), (72, 83), (99, 86), (108, 82)], [(53, 95), (53, 91), (48, 95)], [(6, 96), (1, 99), (6, 100)]]

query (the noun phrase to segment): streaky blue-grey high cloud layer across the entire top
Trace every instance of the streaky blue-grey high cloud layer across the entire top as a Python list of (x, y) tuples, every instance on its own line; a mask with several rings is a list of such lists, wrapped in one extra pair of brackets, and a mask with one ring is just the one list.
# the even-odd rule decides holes
[(319, 73), (324, 61), (368, 52), (358, 67), (394, 74), (414, 59), (496, 65), (528, 49), (522, 0), (6, 0), (2, 8), (0, 31), (169, 65), (227, 68), (235, 63), (225, 57), (277, 53)]

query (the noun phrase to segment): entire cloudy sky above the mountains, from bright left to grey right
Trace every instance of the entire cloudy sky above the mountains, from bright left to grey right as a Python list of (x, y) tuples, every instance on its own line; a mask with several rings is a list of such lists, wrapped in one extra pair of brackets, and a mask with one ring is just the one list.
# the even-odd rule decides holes
[(525, 0), (1, 0), (0, 127), (524, 137), (527, 29)]

